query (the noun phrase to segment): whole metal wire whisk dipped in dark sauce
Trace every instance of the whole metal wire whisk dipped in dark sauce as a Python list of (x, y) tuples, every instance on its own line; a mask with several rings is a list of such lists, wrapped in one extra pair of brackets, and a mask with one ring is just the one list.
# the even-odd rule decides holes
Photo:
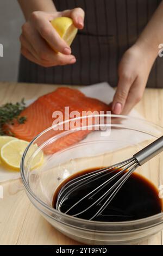
[[(85, 194), (82, 198), (77, 199), (77, 202), (72, 203), (72, 206), (65, 211), (65, 214), (70, 214), (73, 210), (76, 214), (72, 216), (79, 217), (83, 213), (87, 214), (87, 212), (90, 212), (92, 209), (92, 216), (90, 217), (90, 220), (93, 220), (93, 218), (102, 214), (104, 209), (110, 204), (111, 200), (115, 197), (116, 193), (120, 190), (134, 170), (137, 167), (142, 166), (142, 164), (146, 163), (154, 156), (158, 155), (162, 150), (163, 136), (156, 139), (156, 141), (149, 144), (146, 148), (140, 150), (126, 161), (122, 161), (110, 167), (95, 170), (91, 173), (80, 175), (77, 178), (68, 181), (62, 186), (58, 194), (56, 209), (61, 211), (61, 206), (72, 193), (75, 193), (79, 188), (82, 188), (84, 191), (88, 184), (91, 184), (92, 187), (93, 182), (97, 185), (98, 180), (99, 183), (97, 187), (95, 185), (95, 188)], [(110, 174), (112, 174), (111, 178), (108, 178), (108, 175)], [(102, 178), (105, 178), (105, 180)], [(100, 179), (102, 179), (101, 183)], [(103, 193), (104, 187), (105, 192)], [(85, 202), (90, 203), (87, 205)], [(78, 209), (80, 209), (80, 211)]]

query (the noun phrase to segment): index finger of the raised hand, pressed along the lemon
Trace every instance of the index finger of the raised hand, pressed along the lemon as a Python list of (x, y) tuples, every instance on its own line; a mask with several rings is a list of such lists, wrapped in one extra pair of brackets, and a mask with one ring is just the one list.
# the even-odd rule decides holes
[(40, 12), (35, 12), (32, 15), (32, 21), (42, 38), (45, 39), (55, 51), (63, 54), (71, 54), (70, 46), (61, 39), (47, 17), (43, 16)]

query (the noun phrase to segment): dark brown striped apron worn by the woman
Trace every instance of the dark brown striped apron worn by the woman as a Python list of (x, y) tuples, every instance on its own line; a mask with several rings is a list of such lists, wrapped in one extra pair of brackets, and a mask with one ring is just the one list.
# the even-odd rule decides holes
[[(134, 44), (161, 0), (54, 0), (57, 10), (81, 7), (85, 26), (72, 44), (77, 63), (43, 68), (23, 56), (19, 82), (117, 85), (117, 66), (122, 54)], [(158, 57), (147, 87), (161, 88), (163, 58)]]

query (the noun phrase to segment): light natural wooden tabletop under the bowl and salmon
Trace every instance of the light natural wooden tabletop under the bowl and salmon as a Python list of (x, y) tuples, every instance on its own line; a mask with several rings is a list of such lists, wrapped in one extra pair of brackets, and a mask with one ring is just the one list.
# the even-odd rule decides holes
[[(0, 83), (0, 105), (52, 92), (57, 86), (43, 84)], [(147, 120), (163, 126), (163, 90), (146, 89), (137, 111)], [(0, 199), (0, 245), (78, 245), (55, 230), (29, 202), (21, 180), (5, 182)], [(162, 232), (141, 245), (161, 245)]]

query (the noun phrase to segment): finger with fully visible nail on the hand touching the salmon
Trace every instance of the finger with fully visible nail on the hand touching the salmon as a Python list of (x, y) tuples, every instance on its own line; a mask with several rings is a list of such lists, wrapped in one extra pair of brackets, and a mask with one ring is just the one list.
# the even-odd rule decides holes
[(112, 112), (114, 114), (121, 114), (126, 103), (131, 84), (133, 84), (133, 82), (133, 77), (129, 77), (127, 75), (120, 76), (116, 93), (112, 102)]

